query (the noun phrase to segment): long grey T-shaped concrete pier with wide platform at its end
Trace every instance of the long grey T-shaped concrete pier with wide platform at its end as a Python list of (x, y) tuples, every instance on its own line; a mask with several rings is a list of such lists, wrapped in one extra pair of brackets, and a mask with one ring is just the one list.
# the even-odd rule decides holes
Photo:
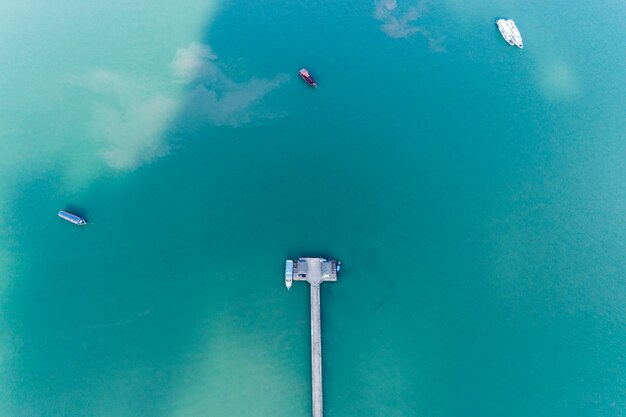
[[(289, 262), (289, 261), (288, 261)], [(289, 264), (288, 264), (289, 265)], [(287, 280), (307, 281), (311, 286), (311, 393), (313, 396), (313, 417), (322, 417), (322, 322), (320, 304), (320, 284), (324, 281), (337, 281), (339, 263), (324, 258), (300, 258), (293, 261), (293, 270), (285, 272)]]

